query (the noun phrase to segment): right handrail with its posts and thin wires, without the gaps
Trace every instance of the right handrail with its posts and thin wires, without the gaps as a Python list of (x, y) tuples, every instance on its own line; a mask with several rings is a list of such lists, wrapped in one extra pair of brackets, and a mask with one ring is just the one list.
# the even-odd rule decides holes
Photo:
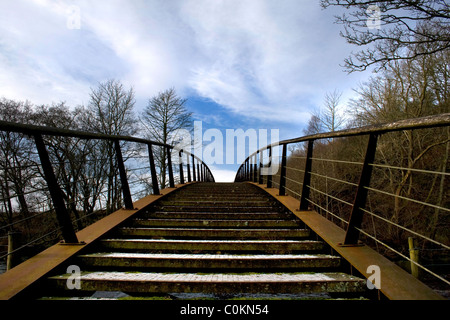
[[(263, 148), (256, 150), (255, 152), (251, 153), (239, 167), (239, 169), (236, 173), (235, 181), (236, 182), (251, 181), (254, 183), (263, 184), (264, 179), (261, 175), (261, 172), (262, 172), (262, 169), (271, 167), (271, 165), (272, 165), (271, 164), (273, 162), (272, 149), (274, 147), (282, 148), (281, 164), (279, 165), (281, 167), (281, 170), (280, 170), (280, 173), (276, 174), (277, 177), (279, 176), (279, 183), (272, 181), (275, 174), (273, 172), (268, 171), (268, 172), (266, 172), (267, 174), (265, 175), (267, 187), (271, 188), (272, 183), (275, 183), (277, 185), (277, 187), (279, 188), (280, 196), (285, 195), (286, 190), (290, 191), (291, 194), (298, 196), (300, 198), (299, 210), (301, 210), (301, 211), (307, 211), (307, 210), (310, 210), (310, 206), (311, 207), (316, 206), (316, 207), (320, 208), (321, 210), (324, 210), (325, 212), (327, 212), (327, 214), (330, 213), (331, 215), (334, 215), (334, 213), (329, 212), (328, 209), (324, 209), (318, 203), (316, 203), (317, 201), (313, 202), (313, 198), (310, 196), (310, 191), (314, 192), (316, 194), (320, 194), (320, 196), (322, 196), (322, 197), (325, 196), (327, 199), (331, 199), (332, 201), (338, 200), (339, 202), (348, 204), (350, 207), (349, 210), (351, 211), (349, 214), (349, 218), (342, 219), (342, 218), (338, 217), (339, 220), (341, 220), (341, 221), (345, 222), (345, 224), (347, 224), (347, 226), (346, 226), (347, 230), (345, 233), (345, 239), (343, 239), (343, 245), (358, 245), (360, 233), (366, 234), (365, 232), (362, 231), (362, 226), (361, 226), (364, 214), (369, 212), (369, 214), (372, 217), (377, 217), (376, 214), (372, 214), (369, 210), (366, 209), (368, 192), (374, 190), (373, 188), (370, 187), (370, 181), (371, 181), (371, 177), (372, 177), (373, 168), (382, 167), (382, 168), (388, 168), (390, 170), (394, 170), (394, 169), (409, 170), (409, 168), (402, 168), (399, 166), (374, 164), (375, 153), (377, 152), (378, 138), (386, 133), (391, 133), (391, 132), (417, 130), (417, 129), (430, 129), (430, 128), (448, 127), (448, 126), (450, 126), (450, 113), (445, 113), (445, 114), (431, 115), (431, 116), (425, 116), (425, 117), (415, 118), (415, 119), (405, 119), (405, 120), (400, 120), (400, 121), (396, 121), (396, 122), (392, 122), (392, 123), (363, 126), (363, 127), (359, 127), (359, 128), (351, 128), (351, 129), (334, 131), (334, 132), (318, 133), (318, 134), (314, 134), (314, 135), (307, 135), (307, 136), (297, 137), (297, 138), (293, 138), (293, 139), (282, 140), (282, 141), (267, 145)], [(314, 149), (315, 141), (324, 140), (324, 139), (356, 137), (356, 136), (368, 136), (369, 137), (363, 162), (356, 163), (356, 162), (348, 162), (348, 161), (342, 161), (342, 160), (328, 160), (328, 159), (325, 159), (325, 160), (330, 161), (330, 162), (336, 162), (336, 163), (339, 163), (340, 165), (346, 165), (347, 163), (357, 164), (361, 168), (360, 169), (361, 171), (359, 173), (359, 182), (358, 181), (345, 181), (342, 178), (338, 179), (336, 177), (329, 177), (328, 176), (329, 174), (327, 174), (326, 172), (323, 174), (318, 174), (316, 172), (313, 172), (313, 170), (312, 170), (313, 161), (315, 163), (317, 160), (322, 160), (322, 159), (317, 159), (317, 158), (313, 157), (313, 149)], [(450, 143), (450, 139), (448, 139), (448, 138), (445, 138), (443, 140), (444, 141), (442, 141), (442, 142), (439, 141), (435, 145)], [(287, 158), (288, 158), (287, 157), (287, 145), (294, 144), (294, 143), (302, 143), (302, 142), (307, 143), (307, 146), (305, 148), (306, 156), (305, 157), (302, 156), (304, 158), (304, 159), (302, 159), (302, 161), (304, 160), (304, 162), (305, 162), (304, 168), (301, 168), (301, 170), (297, 168), (298, 170), (294, 170), (294, 171), (297, 173), (302, 173), (303, 178), (302, 178), (302, 180), (296, 181), (292, 177), (288, 177), (287, 173), (286, 173), (287, 169), (292, 170), (292, 168), (287, 165)], [(269, 155), (268, 155), (269, 164), (268, 165), (263, 164), (264, 153), (266, 151), (268, 151), (268, 153), (269, 153)], [(258, 158), (259, 158), (259, 160), (258, 160)], [(411, 172), (413, 172), (413, 171), (414, 172), (422, 172), (422, 173), (436, 173), (436, 174), (439, 173), (443, 177), (448, 176), (448, 173), (446, 173), (446, 172), (434, 172), (434, 171), (430, 171), (430, 170), (415, 170), (414, 168), (411, 168)], [(324, 192), (324, 190), (317, 190), (317, 188), (314, 188), (314, 186), (311, 183), (311, 179), (313, 176), (315, 177), (315, 179), (330, 179), (327, 181), (334, 181), (334, 182), (338, 182), (338, 183), (344, 182), (348, 186), (351, 186), (351, 188), (354, 188), (355, 193), (354, 193), (353, 203), (349, 203), (348, 201), (345, 201), (343, 199), (338, 199), (335, 195), (330, 195), (329, 193)], [(301, 177), (301, 175), (300, 175), (300, 177)], [(297, 178), (297, 179), (301, 179), (301, 178)], [(296, 191), (288, 188), (286, 186), (287, 180), (288, 180), (288, 182), (292, 182), (292, 183), (295, 182), (299, 186), (301, 186), (301, 189), (300, 189), (301, 192), (300, 192), (300, 190), (296, 192)], [(357, 182), (357, 183), (355, 183), (355, 182)], [(378, 190), (376, 190), (376, 191), (378, 191)], [(427, 207), (430, 207), (432, 210), (443, 210), (442, 212), (450, 211), (450, 209), (444, 208), (439, 205), (429, 204), (424, 201), (410, 199), (407, 197), (403, 197), (401, 195), (397, 195), (397, 194), (393, 194), (393, 193), (384, 193), (384, 194), (388, 194), (389, 196), (397, 197), (402, 200), (408, 200), (408, 201), (411, 201), (412, 203), (419, 204), (422, 206), (427, 206)], [(347, 198), (348, 198), (348, 195), (347, 195)], [(383, 219), (381, 219), (381, 220), (383, 220)], [(386, 221), (387, 219), (384, 219), (384, 220)], [(394, 226), (396, 226), (395, 223), (392, 223), (392, 224)], [(407, 231), (410, 231), (411, 234), (417, 235), (417, 232), (415, 232), (413, 230), (409, 230), (408, 228), (402, 227), (402, 230), (407, 230)], [(425, 241), (430, 240), (430, 238), (425, 235), (421, 235), (420, 237)], [(376, 239), (375, 241), (378, 241), (380, 244), (383, 244), (383, 242), (379, 241), (378, 239)], [(434, 240), (431, 241), (431, 243), (439, 245), (444, 250), (449, 249), (449, 246), (447, 244), (442, 244), (442, 243), (439, 243)], [(396, 250), (394, 250), (394, 249), (392, 249), (392, 251), (396, 252)], [(411, 261), (411, 263), (416, 263), (416, 262)], [(429, 271), (423, 266), (421, 266), (421, 268), (427, 272)], [(443, 280), (442, 277), (439, 277), (439, 276), (437, 276), (437, 277), (439, 279)], [(444, 280), (444, 282), (450, 284), (446, 280)]]

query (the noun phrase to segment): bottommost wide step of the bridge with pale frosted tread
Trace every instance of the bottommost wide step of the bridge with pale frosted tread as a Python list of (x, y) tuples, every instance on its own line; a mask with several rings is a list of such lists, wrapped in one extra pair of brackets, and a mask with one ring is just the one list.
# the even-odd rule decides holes
[[(72, 274), (48, 278), (49, 285), (67, 290)], [(364, 292), (366, 281), (344, 273), (196, 274), (153, 272), (83, 272), (82, 291), (128, 293), (355, 293)]]

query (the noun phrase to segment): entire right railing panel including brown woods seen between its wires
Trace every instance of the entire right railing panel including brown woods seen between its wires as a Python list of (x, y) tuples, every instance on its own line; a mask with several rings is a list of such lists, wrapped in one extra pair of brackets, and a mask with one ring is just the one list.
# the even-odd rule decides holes
[[(441, 114), (283, 140), (249, 155), (235, 181), (277, 188), (299, 199), (299, 210), (340, 224), (343, 244), (364, 238), (388, 258), (417, 265), (422, 278), (449, 285), (449, 126), (450, 114)], [(416, 140), (402, 144), (399, 132)], [(406, 241), (412, 237), (414, 248)], [(408, 257), (410, 250), (423, 261)]]

